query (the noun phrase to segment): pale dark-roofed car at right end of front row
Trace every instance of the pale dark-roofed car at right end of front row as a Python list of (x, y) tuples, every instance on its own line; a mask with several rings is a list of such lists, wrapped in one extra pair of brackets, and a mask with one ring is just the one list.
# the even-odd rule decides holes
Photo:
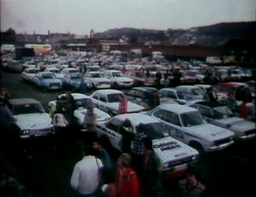
[(191, 101), (186, 105), (198, 109), (208, 123), (234, 132), (237, 140), (248, 140), (256, 136), (254, 122), (234, 117), (229, 108), (223, 104), (210, 101)]

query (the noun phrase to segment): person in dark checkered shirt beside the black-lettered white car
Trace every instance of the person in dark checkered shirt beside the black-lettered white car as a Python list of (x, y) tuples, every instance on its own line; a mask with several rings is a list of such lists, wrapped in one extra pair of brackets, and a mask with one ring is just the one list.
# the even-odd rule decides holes
[(138, 175), (142, 175), (142, 157), (143, 157), (143, 139), (147, 137), (145, 135), (144, 124), (139, 124), (136, 128), (137, 133), (135, 135), (134, 141), (132, 143), (132, 163), (131, 166), (137, 171)]

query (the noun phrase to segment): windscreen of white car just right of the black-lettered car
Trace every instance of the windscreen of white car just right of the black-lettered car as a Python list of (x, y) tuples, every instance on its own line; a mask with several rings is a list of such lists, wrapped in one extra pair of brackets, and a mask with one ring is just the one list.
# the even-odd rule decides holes
[(180, 114), (180, 118), (183, 126), (185, 127), (196, 126), (203, 123), (202, 116), (199, 114), (198, 111), (192, 111), (192, 112), (186, 112), (186, 113)]

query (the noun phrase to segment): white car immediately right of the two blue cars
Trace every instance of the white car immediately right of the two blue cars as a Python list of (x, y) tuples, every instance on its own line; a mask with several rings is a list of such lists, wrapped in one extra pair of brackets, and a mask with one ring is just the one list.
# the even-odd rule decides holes
[(105, 78), (100, 72), (91, 71), (85, 73), (85, 78), (93, 83), (93, 88), (110, 88), (111, 80)]

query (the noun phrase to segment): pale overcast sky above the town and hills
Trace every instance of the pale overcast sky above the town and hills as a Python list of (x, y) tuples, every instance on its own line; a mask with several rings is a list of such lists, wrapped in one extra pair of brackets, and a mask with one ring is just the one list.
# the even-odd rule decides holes
[(1, 0), (0, 8), (1, 31), (17, 33), (187, 29), (256, 18), (256, 0)]

